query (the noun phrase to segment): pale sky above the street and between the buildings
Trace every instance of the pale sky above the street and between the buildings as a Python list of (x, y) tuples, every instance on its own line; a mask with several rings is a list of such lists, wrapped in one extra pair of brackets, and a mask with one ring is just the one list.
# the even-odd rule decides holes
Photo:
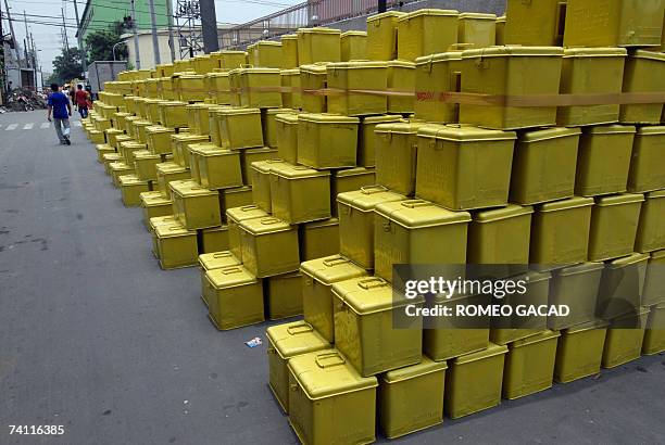
[[(3, 16), (7, 16), (4, 0), (2, 3)], [(53, 59), (60, 54), (62, 43), (62, 15), (64, 9), (67, 24), (67, 38), (70, 47), (76, 44), (76, 20), (74, 15), (74, 0), (7, 0), (12, 20), (23, 20), (25, 11), (28, 21), (28, 31), (33, 34), (35, 47), (38, 52), (39, 64), (43, 73), (51, 73)], [(217, 22), (241, 24), (273, 12), (280, 11), (305, 0), (215, 0)], [(110, 3), (113, 0), (109, 0)], [(174, 9), (176, 0), (173, 0)], [(77, 0), (78, 13), (83, 14), (86, 0)], [(13, 22), (16, 40), (23, 47), (26, 37), (25, 23)], [(9, 27), (7, 20), (3, 27)], [(9, 33), (9, 29), (5, 30)]]

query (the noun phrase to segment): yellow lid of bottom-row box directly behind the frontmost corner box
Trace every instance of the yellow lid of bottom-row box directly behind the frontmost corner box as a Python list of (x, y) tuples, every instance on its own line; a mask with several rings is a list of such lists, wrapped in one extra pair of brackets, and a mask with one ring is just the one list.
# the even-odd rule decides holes
[(284, 359), (330, 347), (330, 343), (303, 320), (272, 326), (266, 329), (266, 336)]

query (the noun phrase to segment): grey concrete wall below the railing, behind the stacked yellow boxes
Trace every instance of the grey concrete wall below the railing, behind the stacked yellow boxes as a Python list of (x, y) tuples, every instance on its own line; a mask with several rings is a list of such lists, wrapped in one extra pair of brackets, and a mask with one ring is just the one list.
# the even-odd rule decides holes
[[(404, 4), (400, 11), (411, 12), (426, 8), (457, 10), (460, 12), (486, 12), (503, 15), (506, 0), (423, 0)], [(372, 14), (374, 15), (374, 14)], [(367, 15), (349, 18), (326, 25), (329, 28), (346, 30), (367, 30)]]

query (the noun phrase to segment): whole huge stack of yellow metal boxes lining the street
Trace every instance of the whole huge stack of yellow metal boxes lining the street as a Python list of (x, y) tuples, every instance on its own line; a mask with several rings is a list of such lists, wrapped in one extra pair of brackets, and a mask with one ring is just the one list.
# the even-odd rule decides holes
[[(123, 75), (85, 129), (217, 329), (303, 316), (267, 329), (301, 442), (398, 437), (665, 351), (665, 4), (604, 3), (298, 29)], [(489, 304), (569, 313), (404, 316)]]

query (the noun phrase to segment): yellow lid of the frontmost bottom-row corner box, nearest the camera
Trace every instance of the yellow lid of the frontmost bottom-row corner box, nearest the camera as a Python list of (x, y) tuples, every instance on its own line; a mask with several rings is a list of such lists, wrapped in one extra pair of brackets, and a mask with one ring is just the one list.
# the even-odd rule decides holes
[(376, 387), (375, 377), (362, 377), (337, 349), (298, 355), (288, 367), (308, 398), (317, 400)]

